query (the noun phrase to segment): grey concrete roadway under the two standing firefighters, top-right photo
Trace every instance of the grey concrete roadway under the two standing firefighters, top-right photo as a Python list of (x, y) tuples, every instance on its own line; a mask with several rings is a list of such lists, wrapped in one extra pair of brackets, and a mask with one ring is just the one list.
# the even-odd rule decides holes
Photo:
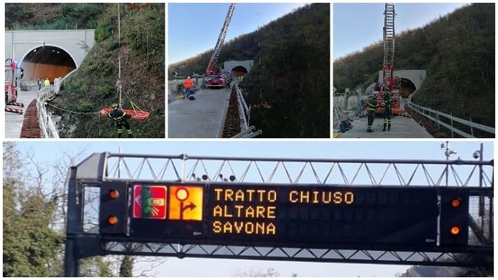
[(353, 129), (344, 133), (334, 133), (334, 138), (433, 138), (413, 118), (395, 116), (392, 118), (390, 131), (382, 131), (384, 127), (382, 116), (376, 116), (373, 133), (367, 133), (367, 117), (353, 121)]

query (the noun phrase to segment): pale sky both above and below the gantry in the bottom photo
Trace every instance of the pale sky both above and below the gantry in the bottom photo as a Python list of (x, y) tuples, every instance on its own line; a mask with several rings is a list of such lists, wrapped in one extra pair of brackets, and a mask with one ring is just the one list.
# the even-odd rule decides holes
[[(149, 142), (149, 141), (18, 141), (18, 150), (30, 150), (35, 162), (50, 167), (63, 153), (75, 155), (84, 151), (84, 157), (92, 152), (122, 152), (154, 155), (180, 155), (218, 157), (286, 157), (306, 159), (446, 159), (441, 140), (423, 142), (399, 141), (209, 141), (209, 142)], [(480, 142), (460, 140), (450, 142), (458, 152), (451, 159), (472, 159), (479, 150)], [(389, 151), (389, 152), (385, 152)], [(79, 159), (80, 162), (84, 157)], [(494, 157), (493, 142), (485, 142), (484, 159)], [(48, 176), (50, 178), (50, 176)], [(50, 185), (50, 184), (49, 184)], [(195, 269), (192, 269), (195, 268)], [(244, 271), (274, 268), (281, 276), (394, 276), (406, 271), (408, 266), (373, 264), (325, 264), (314, 262), (266, 262), (226, 259), (177, 259), (167, 258), (155, 268), (157, 276), (236, 276)]]

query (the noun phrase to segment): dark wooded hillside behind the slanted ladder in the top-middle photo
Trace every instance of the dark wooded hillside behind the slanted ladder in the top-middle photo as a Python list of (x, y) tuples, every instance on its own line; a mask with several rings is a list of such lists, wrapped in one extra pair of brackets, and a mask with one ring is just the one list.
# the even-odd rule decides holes
[[(170, 65), (170, 73), (204, 73), (211, 52)], [(228, 60), (254, 60), (242, 86), (262, 137), (330, 137), (330, 4), (306, 5), (240, 35), (221, 49), (219, 61)]]

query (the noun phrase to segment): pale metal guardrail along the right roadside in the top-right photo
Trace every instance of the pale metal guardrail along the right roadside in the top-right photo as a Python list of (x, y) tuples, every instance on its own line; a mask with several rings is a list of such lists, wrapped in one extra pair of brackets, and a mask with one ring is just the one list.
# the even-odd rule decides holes
[[(455, 116), (448, 115), (447, 113), (442, 113), (440, 111), (433, 110), (431, 108), (426, 108), (424, 106), (419, 106), (414, 103), (407, 104), (411, 109), (416, 111), (421, 116), (428, 118), (438, 125), (438, 128), (443, 126), (451, 131), (451, 137), (455, 138), (455, 134), (462, 136), (463, 138), (477, 138), (475, 134), (479, 131), (485, 133), (491, 133), (494, 138), (494, 128), (481, 125), (479, 123), (472, 123), (472, 121), (464, 120), (463, 118), (457, 118)], [(455, 125), (458, 128), (455, 128)], [(466, 131), (463, 131), (466, 130)], [(477, 130), (477, 131), (475, 131)]]

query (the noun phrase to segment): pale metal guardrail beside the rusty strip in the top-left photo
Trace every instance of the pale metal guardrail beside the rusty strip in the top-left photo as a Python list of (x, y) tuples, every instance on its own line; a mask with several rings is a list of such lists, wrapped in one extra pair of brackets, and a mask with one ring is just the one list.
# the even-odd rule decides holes
[(60, 79), (54, 80), (52, 87), (44, 87), (43, 92), (36, 96), (36, 111), (38, 112), (38, 123), (40, 123), (40, 134), (42, 138), (59, 138), (59, 132), (55, 128), (55, 124), (50, 117), (50, 114), (45, 110), (45, 101), (50, 99), (60, 91)]

